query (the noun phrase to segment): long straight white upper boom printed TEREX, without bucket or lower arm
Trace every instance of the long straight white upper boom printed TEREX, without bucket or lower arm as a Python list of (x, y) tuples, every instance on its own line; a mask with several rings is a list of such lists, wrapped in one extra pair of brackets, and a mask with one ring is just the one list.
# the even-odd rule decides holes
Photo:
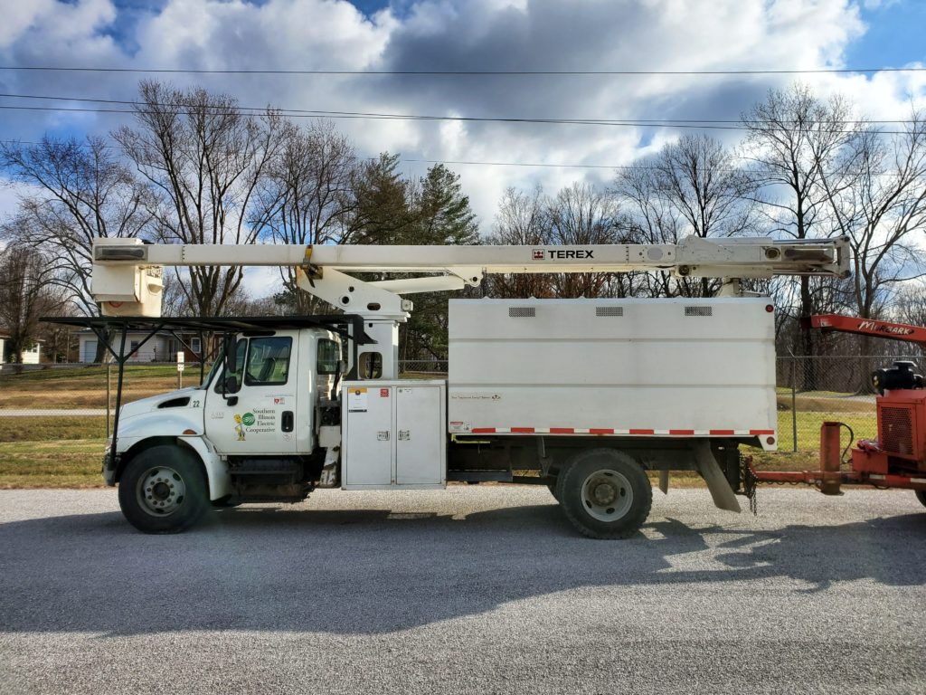
[(452, 272), (467, 267), (487, 273), (664, 270), (691, 277), (843, 277), (848, 272), (847, 247), (841, 238), (772, 241), (696, 236), (678, 245), (588, 246), (147, 245), (137, 239), (100, 239), (94, 244), (94, 265), (310, 265), (340, 272)]

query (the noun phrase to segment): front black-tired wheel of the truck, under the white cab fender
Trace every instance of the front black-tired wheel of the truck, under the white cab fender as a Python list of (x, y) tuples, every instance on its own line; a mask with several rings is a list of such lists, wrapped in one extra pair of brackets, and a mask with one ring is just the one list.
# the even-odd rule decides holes
[(163, 445), (145, 449), (119, 479), (119, 507), (129, 523), (148, 534), (180, 533), (209, 506), (206, 475), (194, 453)]

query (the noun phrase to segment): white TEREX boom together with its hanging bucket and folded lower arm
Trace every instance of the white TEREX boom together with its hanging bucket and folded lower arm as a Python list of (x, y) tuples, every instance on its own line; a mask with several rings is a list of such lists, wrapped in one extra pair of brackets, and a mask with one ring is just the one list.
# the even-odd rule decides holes
[[(299, 286), (316, 297), (343, 310), (400, 321), (411, 310), (411, 302), (402, 295), (475, 286), (490, 272), (665, 271), (678, 277), (724, 280), (846, 277), (849, 272), (845, 238), (773, 241), (689, 236), (678, 245), (593, 246), (181, 246), (99, 239), (94, 243), (94, 298), (103, 302), (104, 313), (159, 315), (159, 268), (165, 265), (295, 266), (301, 271)], [(430, 275), (361, 282), (347, 272)]]

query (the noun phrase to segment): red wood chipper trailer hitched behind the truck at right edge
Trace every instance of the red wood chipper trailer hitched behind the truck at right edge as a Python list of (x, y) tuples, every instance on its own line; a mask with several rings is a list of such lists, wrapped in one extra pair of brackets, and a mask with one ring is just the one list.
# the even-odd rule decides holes
[[(907, 323), (859, 319), (839, 314), (812, 316), (810, 325), (822, 331), (904, 340), (926, 346), (926, 328)], [(751, 464), (753, 483), (807, 483), (824, 495), (839, 495), (843, 485), (912, 489), (926, 506), (926, 387), (916, 365), (896, 361), (875, 370), (871, 383), (878, 395), (878, 438), (859, 440), (852, 449), (850, 470), (842, 470), (842, 423), (820, 427), (819, 471), (759, 471)]]

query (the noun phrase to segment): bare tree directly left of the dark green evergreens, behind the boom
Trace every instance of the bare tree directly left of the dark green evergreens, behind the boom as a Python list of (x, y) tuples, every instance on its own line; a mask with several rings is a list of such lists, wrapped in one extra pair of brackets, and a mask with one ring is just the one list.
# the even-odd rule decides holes
[[(330, 121), (302, 129), (287, 123), (281, 135), (282, 146), (259, 191), (254, 222), (266, 223), (274, 241), (282, 244), (339, 243), (344, 217), (354, 208), (353, 145)], [(317, 310), (319, 300), (296, 285), (295, 269), (282, 268), (281, 273), (290, 309), (300, 314)]]

